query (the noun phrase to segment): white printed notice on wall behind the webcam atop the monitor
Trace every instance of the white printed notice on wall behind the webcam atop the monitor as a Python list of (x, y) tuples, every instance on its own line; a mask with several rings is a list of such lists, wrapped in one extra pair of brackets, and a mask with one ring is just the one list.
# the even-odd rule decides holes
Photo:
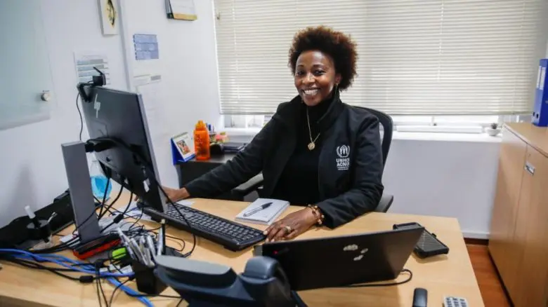
[(93, 53), (74, 53), (74, 64), (78, 82), (87, 83), (93, 80), (93, 76), (99, 76), (100, 70), (105, 74), (107, 85), (110, 85), (110, 71), (106, 55)]

